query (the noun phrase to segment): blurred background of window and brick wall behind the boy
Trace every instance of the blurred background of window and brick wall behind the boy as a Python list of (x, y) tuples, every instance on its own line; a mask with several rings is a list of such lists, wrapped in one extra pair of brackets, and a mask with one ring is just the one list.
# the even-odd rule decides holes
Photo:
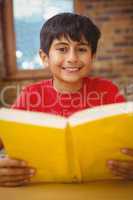
[(132, 0), (0, 0), (0, 106), (10, 107), (25, 85), (51, 77), (39, 59), (39, 33), (59, 12), (96, 23), (102, 37), (92, 75), (112, 80), (133, 100)]

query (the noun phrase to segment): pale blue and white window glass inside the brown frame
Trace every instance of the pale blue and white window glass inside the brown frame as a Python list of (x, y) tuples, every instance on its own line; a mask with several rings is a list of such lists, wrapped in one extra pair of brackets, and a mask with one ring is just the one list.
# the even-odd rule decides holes
[(40, 69), (38, 49), (42, 24), (59, 12), (73, 12), (73, 0), (13, 0), (18, 69)]

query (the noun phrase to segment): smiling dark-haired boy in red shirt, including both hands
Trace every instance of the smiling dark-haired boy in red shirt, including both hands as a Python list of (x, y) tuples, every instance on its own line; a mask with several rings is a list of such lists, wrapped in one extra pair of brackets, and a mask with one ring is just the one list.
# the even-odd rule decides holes
[[(124, 102), (111, 81), (88, 76), (99, 38), (99, 29), (85, 16), (61, 13), (49, 19), (40, 34), (40, 57), (53, 78), (27, 86), (12, 108), (68, 117), (85, 108)], [(132, 149), (121, 152), (133, 156)], [(109, 160), (107, 166), (116, 176), (133, 178), (132, 161)], [(0, 160), (1, 186), (27, 184), (34, 174), (25, 161)]]

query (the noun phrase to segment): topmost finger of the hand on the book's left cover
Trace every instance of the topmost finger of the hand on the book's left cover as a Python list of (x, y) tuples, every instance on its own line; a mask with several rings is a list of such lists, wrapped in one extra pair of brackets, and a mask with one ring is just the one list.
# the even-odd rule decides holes
[(27, 167), (26, 161), (9, 157), (0, 158), (1, 167)]

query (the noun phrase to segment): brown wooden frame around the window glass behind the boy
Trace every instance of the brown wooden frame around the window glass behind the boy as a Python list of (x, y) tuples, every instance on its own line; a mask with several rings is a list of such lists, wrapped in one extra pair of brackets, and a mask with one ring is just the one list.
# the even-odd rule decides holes
[[(74, 0), (74, 11), (81, 13), (82, 0)], [(51, 73), (49, 68), (19, 70), (16, 64), (16, 35), (14, 30), (13, 0), (1, 0), (2, 13), (2, 33), (4, 47), (4, 63), (6, 66), (5, 79), (36, 79), (49, 78)]]

